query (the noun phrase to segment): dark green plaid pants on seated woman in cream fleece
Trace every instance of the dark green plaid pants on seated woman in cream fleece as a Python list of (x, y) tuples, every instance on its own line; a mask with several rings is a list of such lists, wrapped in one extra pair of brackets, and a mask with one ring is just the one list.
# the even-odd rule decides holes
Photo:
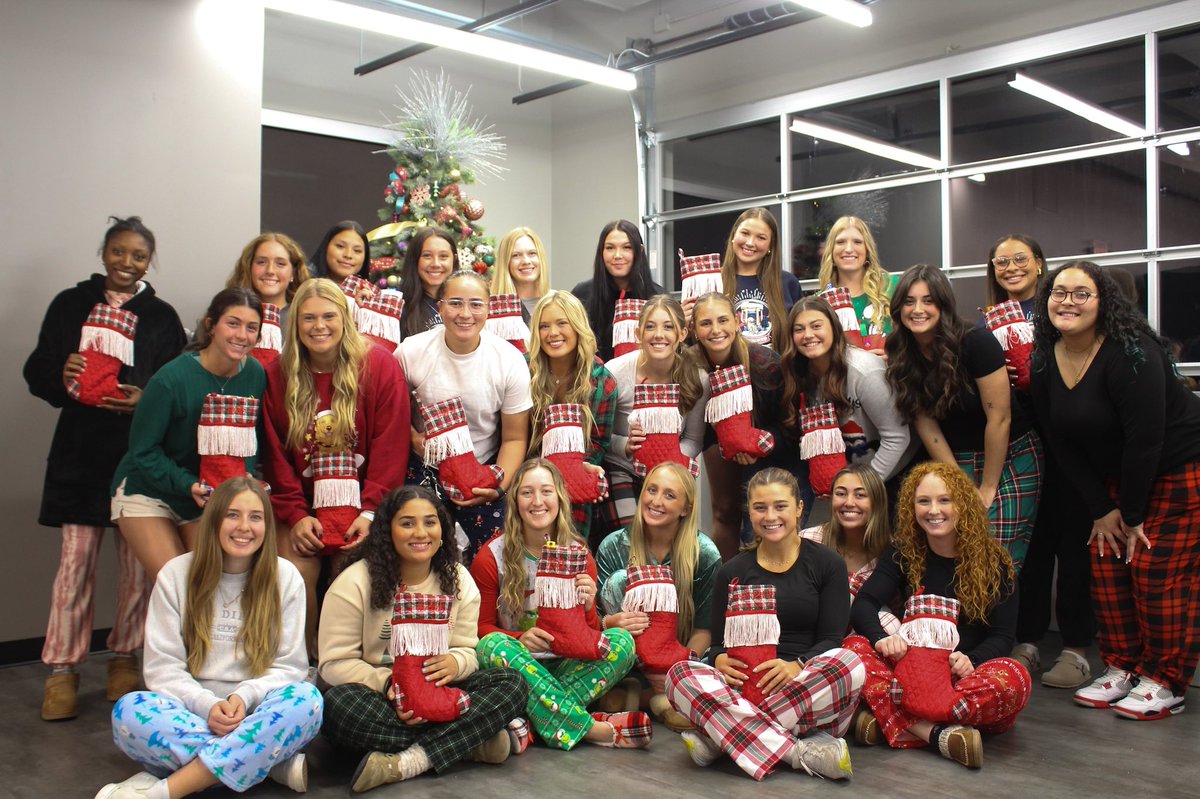
[(440, 774), (498, 733), (526, 705), (526, 684), (508, 668), (476, 672), (455, 684), (470, 695), (470, 709), (454, 721), (406, 725), (388, 697), (366, 685), (347, 683), (325, 693), (322, 732), (356, 753), (402, 752), (420, 745)]

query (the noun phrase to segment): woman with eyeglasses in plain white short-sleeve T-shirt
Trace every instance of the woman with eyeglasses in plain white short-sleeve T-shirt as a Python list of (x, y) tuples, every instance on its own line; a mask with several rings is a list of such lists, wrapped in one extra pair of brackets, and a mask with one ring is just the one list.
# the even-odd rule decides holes
[[(458, 397), (475, 458), (504, 470), (499, 488), (475, 488), (469, 499), (446, 498), (446, 509), (469, 540), (463, 552), (467, 564), (504, 525), (504, 494), (529, 450), (533, 407), (524, 358), (512, 344), (484, 330), (487, 296), (482, 276), (468, 269), (451, 274), (440, 282), (438, 295), (443, 325), (406, 336), (396, 348), (413, 397), (425, 405)], [(419, 417), (414, 410), (414, 420)], [(424, 428), (412, 429), (412, 443), (409, 482), (432, 480), (424, 474)]]

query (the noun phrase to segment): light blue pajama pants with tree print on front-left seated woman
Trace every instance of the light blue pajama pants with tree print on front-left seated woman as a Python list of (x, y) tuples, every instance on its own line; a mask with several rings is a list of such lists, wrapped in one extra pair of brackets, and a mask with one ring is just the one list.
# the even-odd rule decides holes
[(275, 689), (222, 737), (175, 697), (134, 691), (113, 707), (113, 741), (157, 776), (174, 774), (198, 757), (212, 776), (241, 792), (307, 746), (320, 731), (320, 693), (308, 683)]

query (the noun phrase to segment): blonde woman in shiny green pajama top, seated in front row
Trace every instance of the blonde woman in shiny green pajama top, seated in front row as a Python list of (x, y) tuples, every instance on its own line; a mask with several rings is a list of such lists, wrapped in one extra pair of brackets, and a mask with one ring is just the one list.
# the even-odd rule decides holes
[[(696, 505), (696, 480), (678, 463), (660, 463), (646, 475), (637, 500), (637, 516), (626, 529), (604, 540), (596, 553), (600, 575), (600, 606), (606, 613), (605, 629), (628, 630), (636, 639), (649, 626), (642, 612), (622, 611), (630, 566), (671, 566), (679, 597), (679, 623), (676, 638), (696, 654), (703, 654), (712, 642), (709, 615), (713, 582), (721, 565), (721, 553), (713, 540), (700, 530)], [(672, 729), (688, 729), (691, 723), (667, 702), (662, 674), (646, 674), (650, 684), (650, 711)], [(620, 691), (618, 687), (613, 692)], [(641, 689), (638, 689), (641, 692)]]

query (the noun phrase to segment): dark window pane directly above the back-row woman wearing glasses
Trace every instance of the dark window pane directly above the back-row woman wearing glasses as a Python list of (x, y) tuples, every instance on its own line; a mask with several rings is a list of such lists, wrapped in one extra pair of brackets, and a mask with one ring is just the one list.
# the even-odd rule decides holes
[(982, 264), (991, 242), (1024, 233), (1048, 258), (1146, 246), (1146, 157), (1141, 151), (950, 181), (955, 265)]

